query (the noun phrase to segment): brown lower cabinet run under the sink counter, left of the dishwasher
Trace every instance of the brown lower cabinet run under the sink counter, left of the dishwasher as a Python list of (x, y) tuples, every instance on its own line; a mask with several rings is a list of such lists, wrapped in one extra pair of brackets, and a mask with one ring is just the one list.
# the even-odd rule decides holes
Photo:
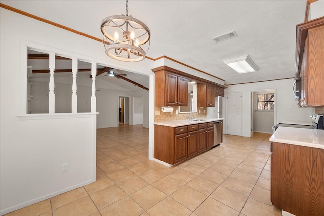
[(209, 150), (214, 142), (213, 122), (181, 127), (154, 125), (154, 158), (176, 164)]

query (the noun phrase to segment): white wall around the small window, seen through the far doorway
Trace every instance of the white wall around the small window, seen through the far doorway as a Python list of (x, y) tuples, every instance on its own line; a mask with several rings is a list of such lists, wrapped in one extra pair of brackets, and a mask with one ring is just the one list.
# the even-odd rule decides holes
[(254, 132), (262, 132), (262, 133), (270, 133), (270, 134), (273, 133), (272, 127), (275, 125), (274, 110), (258, 110), (258, 103), (257, 103), (258, 94), (268, 94), (268, 93), (274, 93), (274, 90), (253, 92), (252, 128)]

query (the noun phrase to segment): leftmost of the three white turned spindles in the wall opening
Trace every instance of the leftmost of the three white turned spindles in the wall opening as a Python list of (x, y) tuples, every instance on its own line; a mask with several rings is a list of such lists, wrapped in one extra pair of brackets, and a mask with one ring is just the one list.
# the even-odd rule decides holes
[(54, 94), (54, 70), (55, 70), (55, 53), (49, 55), (49, 69), (50, 69), (50, 82), (49, 82), (49, 113), (55, 113), (55, 94)]

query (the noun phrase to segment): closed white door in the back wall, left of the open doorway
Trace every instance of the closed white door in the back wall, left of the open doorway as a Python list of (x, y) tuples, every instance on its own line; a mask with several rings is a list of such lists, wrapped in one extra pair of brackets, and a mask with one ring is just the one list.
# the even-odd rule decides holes
[(227, 94), (227, 134), (241, 136), (242, 93)]

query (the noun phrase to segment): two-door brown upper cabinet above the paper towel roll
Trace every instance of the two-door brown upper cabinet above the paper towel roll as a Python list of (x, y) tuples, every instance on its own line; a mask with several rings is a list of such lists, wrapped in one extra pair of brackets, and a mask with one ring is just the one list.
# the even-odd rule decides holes
[(155, 71), (155, 106), (187, 106), (188, 79), (167, 70)]

